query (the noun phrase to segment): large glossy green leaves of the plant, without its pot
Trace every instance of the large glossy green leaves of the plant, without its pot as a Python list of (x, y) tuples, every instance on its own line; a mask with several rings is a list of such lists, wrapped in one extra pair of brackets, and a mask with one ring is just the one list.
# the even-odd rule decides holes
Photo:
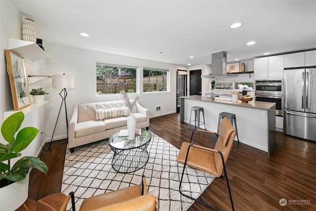
[(0, 187), (21, 181), (31, 168), (47, 173), (47, 166), (38, 157), (26, 156), (18, 160), (11, 168), (11, 159), (21, 156), (24, 150), (37, 136), (39, 129), (24, 127), (17, 135), (24, 120), (22, 111), (9, 116), (1, 126), (1, 134), (8, 143), (0, 143)]

